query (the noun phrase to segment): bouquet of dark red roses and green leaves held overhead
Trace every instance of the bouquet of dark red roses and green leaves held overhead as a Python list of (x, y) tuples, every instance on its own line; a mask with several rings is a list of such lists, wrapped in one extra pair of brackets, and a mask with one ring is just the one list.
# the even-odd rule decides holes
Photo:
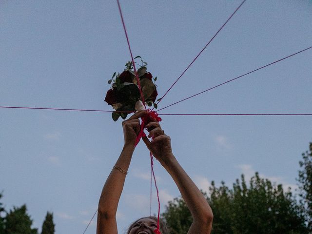
[[(139, 56), (135, 59), (138, 58), (141, 59)], [(155, 101), (158, 93), (154, 83), (157, 77), (153, 78), (152, 74), (147, 72), (147, 63), (145, 61), (141, 59), (141, 62), (142, 65), (138, 64), (140, 68), (137, 70), (137, 76), (140, 80), (145, 104), (148, 106), (154, 105), (157, 108)], [(128, 61), (125, 67), (121, 74), (115, 72), (113, 77), (108, 80), (112, 87), (107, 91), (105, 101), (115, 109), (112, 113), (114, 121), (117, 121), (119, 117), (125, 119), (129, 113), (135, 112), (136, 103), (141, 100), (132, 62)]]

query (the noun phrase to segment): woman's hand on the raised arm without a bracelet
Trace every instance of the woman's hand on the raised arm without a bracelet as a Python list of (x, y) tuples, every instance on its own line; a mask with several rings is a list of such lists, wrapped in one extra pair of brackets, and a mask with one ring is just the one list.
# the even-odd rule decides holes
[(173, 157), (170, 137), (164, 134), (158, 122), (149, 122), (146, 127), (149, 131), (148, 137), (152, 137), (152, 141), (142, 137), (144, 143), (161, 164), (166, 163)]

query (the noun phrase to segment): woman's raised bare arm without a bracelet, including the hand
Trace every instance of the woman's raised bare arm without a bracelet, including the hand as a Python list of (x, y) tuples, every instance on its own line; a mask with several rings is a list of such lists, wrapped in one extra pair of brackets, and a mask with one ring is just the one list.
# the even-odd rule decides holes
[(213, 212), (205, 197), (173, 155), (170, 137), (164, 134), (157, 122), (150, 122), (146, 127), (150, 130), (148, 137), (154, 136), (154, 139), (150, 142), (147, 137), (143, 137), (145, 144), (174, 179), (193, 216), (193, 223), (188, 234), (210, 234)]

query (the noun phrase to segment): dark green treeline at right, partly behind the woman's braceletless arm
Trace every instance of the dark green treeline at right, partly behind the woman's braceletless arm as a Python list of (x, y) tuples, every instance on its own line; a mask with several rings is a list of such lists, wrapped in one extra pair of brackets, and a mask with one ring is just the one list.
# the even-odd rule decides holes
[[(249, 182), (242, 175), (231, 188), (213, 181), (204, 194), (214, 213), (212, 234), (312, 234), (312, 143), (299, 166), (296, 194), (258, 173)], [(170, 234), (187, 234), (193, 222), (181, 197), (168, 203), (162, 218)]]

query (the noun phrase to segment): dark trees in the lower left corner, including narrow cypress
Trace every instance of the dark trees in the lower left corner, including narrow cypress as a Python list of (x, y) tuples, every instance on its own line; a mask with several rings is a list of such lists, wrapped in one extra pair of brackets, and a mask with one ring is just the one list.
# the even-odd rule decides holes
[[(0, 194), (0, 199), (2, 193)], [(27, 214), (26, 205), (13, 207), (13, 210), (6, 211), (0, 202), (0, 234), (38, 234), (37, 228), (32, 228), (33, 220)], [(42, 224), (41, 234), (54, 234), (55, 224), (53, 213), (47, 212)]]

